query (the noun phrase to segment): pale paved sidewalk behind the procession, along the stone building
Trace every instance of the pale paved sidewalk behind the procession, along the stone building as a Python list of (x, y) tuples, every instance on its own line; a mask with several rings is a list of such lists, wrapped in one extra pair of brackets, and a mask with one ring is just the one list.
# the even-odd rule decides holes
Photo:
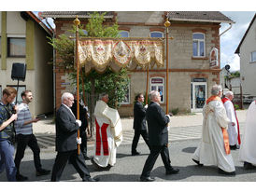
[[(240, 133), (243, 134), (247, 110), (237, 111), (237, 117), (240, 124)], [(196, 113), (191, 116), (176, 116), (171, 117), (171, 128), (168, 132), (169, 142), (188, 141), (192, 139), (200, 139), (202, 135), (202, 113)], [(133, 130), (134, 118), (121, 118), (123, 128), (123, 140), (121, 144), (132, 144), (134, 138)], [(52, 117), (38, 121), (34, 124), (34, 133), (40, 148), (55, 147), (55, 124)], [(145, 143), (140, 137), (139, 144)], [(94, 145), (94, 140), (88, 140), (88, 146)]]

